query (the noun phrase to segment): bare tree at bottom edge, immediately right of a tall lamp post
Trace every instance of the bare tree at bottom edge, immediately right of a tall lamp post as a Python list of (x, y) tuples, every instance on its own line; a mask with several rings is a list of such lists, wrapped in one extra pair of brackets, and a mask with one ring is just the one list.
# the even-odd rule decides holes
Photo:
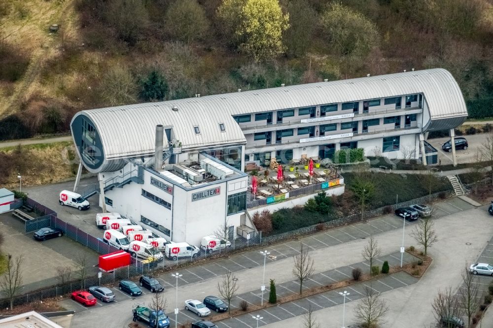
[(365, 287), (363, 298), (354, 308), (354, 316), (363, 327), (378, 327), (379, 324), (383, 323), (388, 306), (386, 301), (380, 298), (380, 295), (375, 292), (371, 284)]

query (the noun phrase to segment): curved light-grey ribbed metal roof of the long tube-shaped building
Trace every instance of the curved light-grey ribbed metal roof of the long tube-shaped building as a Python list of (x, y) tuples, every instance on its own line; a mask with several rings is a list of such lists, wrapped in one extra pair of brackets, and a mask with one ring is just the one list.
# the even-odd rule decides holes
[[(173, 126), (184, 148), (245, 143), (232, 115), (423, 93), (432, 121), (467, 116), (462, 93), (445, 69), (317, 82), (200, 98), (84, 110), (96, 124), (106, 158), (153, 153), (157, 124)], [(176, 106), (178, 111), (173, 111)], [(72, 119), (73, 122), (73, 119)], [(223, 123), (225, 131), (220, 131)], [(438, 122), (437, 122), (438, 123)], [(195, 134), (198, 126), (200, 134)]]

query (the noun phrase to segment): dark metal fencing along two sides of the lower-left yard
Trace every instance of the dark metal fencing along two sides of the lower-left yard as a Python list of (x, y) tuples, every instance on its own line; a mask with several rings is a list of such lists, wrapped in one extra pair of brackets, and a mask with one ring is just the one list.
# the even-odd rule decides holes
[[(38, 210), (44, 211), (44, 213), (52, 213), (36, 220), (40, 220), (37, 224), (41, 225), (41, 221), (45, 222), (47, 220), (49, 224), (46, 227), (57, 228), (62, 230), (69, 238), (81, 243), (86, 247), (90, 247), (100, 254), (108, 254), (118, 251), (118, 249), (106, 244), (101, 239), (95, 238), (90, 234), (78, 229), (77, 227), (67, 223), (56, 216), (56, 212), (51, 209), (35, 202), (34, 200), (28, 198), (29, 206), (36, 208)], [(35, 222), (35, 220), (30, 220)], [(26, 222), (28, 225), (28, 222)], [(42, 228), (42, 227), (41, 227)], [(27, 229), (27, 228), (26, 228)], [(183, 267), (190, 265), (192, 262), (205, 262), (211, 258), (220, 257), (223, 253), (234, 252), (235, 250), (244, 249), (249, 246), (260, 245), (262, 243), (262, 233), (261, 232), (251, 232), (250, 238), (246, 239), (244, 237), (238, 237), (231, 241), (231, 245), (226, 249), (214, 252), (201, 251), (198, 256), (190, 258), (181, 258), (176, 261), (164, 259), (156, 262), (141, 262), (135, 258), (131, 258), (131, 264), (128, 266), (120, 267), (112, 272), (102, 272), (101, 278), (89, 277), (82, 281), (71, 281), (67, 284), (61, 286), (53, 286), (50, 288), (26, 293), (24, 295), (19, 295), (14, 297), (14, 306), (24, 304), (27, 302), (32, 302), (36, 300), (42, 300), (49, 297), (57, 297), (60, 295), (69, 295), (71, 292), (87, 289), (90, 286), (99, 286), (106, 284), (113, 284), (121, 279), (130, 279), (134, 276), (142, 275), (145, 273), (152, 272), (156, 269), (161, 270), (174, 270), (177, 267)], [(73, 271), (73, 276), (77, 276), (77, 270)], [(9, 299), (0, 299), (0, 308), (10, 307)]]

